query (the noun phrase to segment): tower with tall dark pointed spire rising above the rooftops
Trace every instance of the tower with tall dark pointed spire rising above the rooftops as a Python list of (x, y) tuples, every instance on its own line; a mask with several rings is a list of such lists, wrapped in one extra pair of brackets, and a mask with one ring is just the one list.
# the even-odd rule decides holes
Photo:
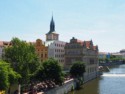
[(50, 30), (46, 34), (46, 41), (58, 40), (59, 34), (55, 32), (55, 22), (53, 20), (53, 16), (50, 22)]

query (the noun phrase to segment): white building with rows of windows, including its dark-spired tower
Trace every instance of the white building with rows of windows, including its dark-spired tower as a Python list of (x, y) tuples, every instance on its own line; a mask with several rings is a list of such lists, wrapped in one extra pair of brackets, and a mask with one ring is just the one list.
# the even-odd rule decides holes
[(50, 22), (50, 31), (46, 34), (45, 45), (48, 46), (48, 58), (54, 58), (63, 66), (65, 63), (65, 42), (59, 41), (59, 34), (55, 32), (53, 17)]

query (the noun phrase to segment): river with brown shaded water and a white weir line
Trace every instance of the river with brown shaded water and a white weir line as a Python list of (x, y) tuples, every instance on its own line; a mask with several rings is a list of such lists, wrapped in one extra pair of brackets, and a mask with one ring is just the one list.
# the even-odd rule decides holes
[(125, 65), (110, 67), (109, 72), (68, 94), (125, 94)]

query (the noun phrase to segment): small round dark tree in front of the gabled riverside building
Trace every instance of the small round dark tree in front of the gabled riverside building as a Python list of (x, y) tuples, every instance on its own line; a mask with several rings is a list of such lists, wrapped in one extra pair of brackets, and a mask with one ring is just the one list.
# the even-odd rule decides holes
[(73, 77), (82, 77), (85, 72), (85, 65), (83, 62), (75, 62), (70, 69), (70, 74)]

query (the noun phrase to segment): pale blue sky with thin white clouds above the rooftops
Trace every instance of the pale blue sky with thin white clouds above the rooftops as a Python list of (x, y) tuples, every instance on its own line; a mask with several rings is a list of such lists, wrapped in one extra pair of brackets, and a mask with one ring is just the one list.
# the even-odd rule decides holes
[(93, 40), (100, 52), (125, 49), (125, 0), (0, 0), (0, 41), (45, 41), (52, 14), (59, 40)]

